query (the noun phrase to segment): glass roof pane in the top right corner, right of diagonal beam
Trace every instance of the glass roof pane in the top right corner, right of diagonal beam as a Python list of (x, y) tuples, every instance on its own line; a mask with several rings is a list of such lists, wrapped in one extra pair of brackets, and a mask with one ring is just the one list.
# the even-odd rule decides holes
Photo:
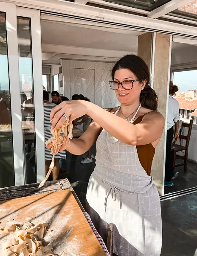
[(169, 15), (189, 20), (197, 20), (197, 0), (181, 6), (179, 9), (170, 12)]

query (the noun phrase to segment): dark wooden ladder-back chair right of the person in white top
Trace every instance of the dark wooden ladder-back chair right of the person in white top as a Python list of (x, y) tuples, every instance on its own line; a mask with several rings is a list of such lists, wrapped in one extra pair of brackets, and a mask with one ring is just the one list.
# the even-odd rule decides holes
[[(184, 172), (187, 172), (187, 158), (188, 158), (188, 150), (189, 150), (189, 140), (191, 137), (191, 130), (192, 130), (192, 125), (193, 125), (193, 120), (190, 120), (190, 123), (182, 123), (181, 127), (187, 127), (188, 128), (188, 133), (187, 136), (186, 135), (179, 135), (180, 140), (186, 140), (186, 145), (182, 146), (182, 145), (178, 145), (178, 144), (173, 144), (172, 143), (172, 151), (174, 151), (174, 168), (178, 167), (178, 166), (184, 166)], [(175, 148), (173, 148), (175, 145)], [(179, 156), (176, 153), (179, 151), (185, 151), (185, 154), (183, 156)], [(184, 162), (183, 163), (178, 163), (176, 164), (176, 159), (180, 159), (183, 158)]]

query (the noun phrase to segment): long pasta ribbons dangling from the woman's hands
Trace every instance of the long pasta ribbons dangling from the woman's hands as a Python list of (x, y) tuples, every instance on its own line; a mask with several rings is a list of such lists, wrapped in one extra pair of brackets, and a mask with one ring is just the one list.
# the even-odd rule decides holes
[[(48, 141), (45, 142), (45, 145), (52, 144), (51, 154), (53, 154), (53, 158), (52, 158), (52, 161), (51, 161), (51, 165), (49, 167), (49, 171), (48, 171), (45, 179), (42, 180), (42, 182), (39, 184), (39, 188), (44, 186), (46, 180), (48, 180), (48, 177), (49, 177), (51, 171), (53, 170), (55, 155), (58, 153), (58, 150), (57, 150), (58, 145), (62, 146), (62, 142), (65, 142), (64, 150), (66, 149), (66, 136), (67, 136), (67, 132), (68, 132), (69, 139), (73, 138), (72, 130), (73, 130), (73, 124), (72, 123), (69, 124), (69, 120), (67, 120), (58, 129), (51, 128), (51, 134), (53, 136)], [(64, 133), (64, 136), (62, 136), (61, 132)]]

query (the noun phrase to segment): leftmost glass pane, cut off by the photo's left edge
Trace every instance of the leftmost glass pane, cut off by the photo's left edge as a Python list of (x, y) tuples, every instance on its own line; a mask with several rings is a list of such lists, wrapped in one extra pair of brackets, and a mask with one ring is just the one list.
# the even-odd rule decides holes
[(0, 188), (15, 186), (6, 14), (0, 13)]

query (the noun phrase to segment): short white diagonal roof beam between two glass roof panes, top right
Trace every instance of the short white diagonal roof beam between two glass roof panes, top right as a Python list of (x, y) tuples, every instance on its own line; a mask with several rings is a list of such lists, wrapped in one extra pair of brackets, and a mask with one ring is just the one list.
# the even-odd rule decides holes
[(170, 2), (165, 3), (162, 6), (150, 12), (148, 14), (148, 17), (157, 19), (158, 17), (161, 17), (169, 12), (172, 12), (181, 6), (184, 6), (185, 4), (190, 3), (191, 1), (192, 0), (171, 0)]

